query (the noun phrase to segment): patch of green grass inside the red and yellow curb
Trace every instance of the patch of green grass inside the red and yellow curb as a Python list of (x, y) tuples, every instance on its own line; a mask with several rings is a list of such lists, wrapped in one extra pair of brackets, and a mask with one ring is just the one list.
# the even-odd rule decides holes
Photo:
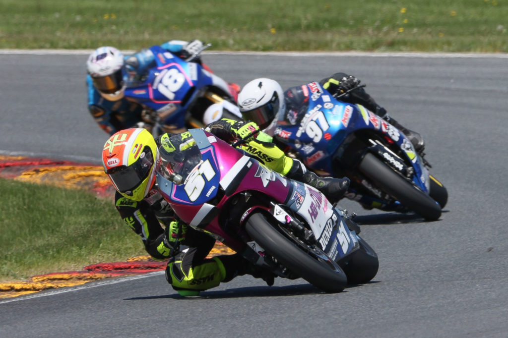
[(146, 255), (110, 199), (6, 179), (0, 191), (0, 281)]

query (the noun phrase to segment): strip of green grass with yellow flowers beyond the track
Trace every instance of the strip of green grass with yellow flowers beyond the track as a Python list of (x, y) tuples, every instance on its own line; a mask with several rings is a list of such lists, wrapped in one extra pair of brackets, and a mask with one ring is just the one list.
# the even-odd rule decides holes
[(0, 49), (508, 52), (507, 0), (3, 0)]

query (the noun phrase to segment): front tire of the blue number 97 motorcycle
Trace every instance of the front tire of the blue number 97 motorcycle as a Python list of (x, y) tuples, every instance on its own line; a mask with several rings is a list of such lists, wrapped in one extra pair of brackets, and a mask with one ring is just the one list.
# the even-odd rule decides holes
[(366, 153), (358, 169), (379, 189), (426, 220), (435, 221), (441, 216), (441, 207), (434, 199), (406, 181), (373, 154)]

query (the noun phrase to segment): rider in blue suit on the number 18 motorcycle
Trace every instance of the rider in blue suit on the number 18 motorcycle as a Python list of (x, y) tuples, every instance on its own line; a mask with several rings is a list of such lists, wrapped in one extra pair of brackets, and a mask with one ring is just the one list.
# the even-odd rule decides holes
[[(203, 43), (199, 40), (171, 40), (160, 47), (188, 62), (202, 64), (199, 52)], [(142, 83), (155, 65), (149, 49), (124, 56), (118, 49), (105, 46), (90, 54), (86, 62), (88, 110), (105, 132), (112, 135), (131, 127), (151, 129), (152, 112), (134, 99), (125, 97), (124, 92), (126, 88)], [(210, 71), (206, 65), (203, 67)], [(236, 84), (230, 84), (230, 87), (232, 92), (239, 90)]]

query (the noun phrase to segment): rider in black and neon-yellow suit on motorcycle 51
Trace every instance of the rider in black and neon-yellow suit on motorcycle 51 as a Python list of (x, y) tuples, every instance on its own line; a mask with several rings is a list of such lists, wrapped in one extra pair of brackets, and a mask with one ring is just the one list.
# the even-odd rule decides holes
[[(258, 149), (253, 156), (281, 174), (305, 177), (311, 185), (335, 198), (341, 198), (347, 190), (348, 179), (320, 179), (307, 172), (300, 161), (288, 160), (280, 149), (257, 140), (259, 127), (254, 123), (218, 122), (212, 123), (209, 128), (211, 132), (217, 132), (219, 138), (232, 140), (253, 132), (245, 141)], [(182, 141), (185, 134), (180, 134)], [(157, 190), (155, 177), (158, 146), (168, 138), (169, 134), (165, 133), (154, 140), (146, 129), (130, 128), (114, 133), (104, 144), (104, 171), (116, 189), (115, 207), (124, 223), (141, 236), (145, 250), (153, 258), (169, 258), (166, 279), (180, 295), (197, 295), (200, 291), (246, 274), (273, 285), (275, 276), (271, 272), (261, 270), (238, 254), (206, 258), (215, 240), (175, 217), (168, 202)], [(183, 249), (180, 245), (187, 248)]]

